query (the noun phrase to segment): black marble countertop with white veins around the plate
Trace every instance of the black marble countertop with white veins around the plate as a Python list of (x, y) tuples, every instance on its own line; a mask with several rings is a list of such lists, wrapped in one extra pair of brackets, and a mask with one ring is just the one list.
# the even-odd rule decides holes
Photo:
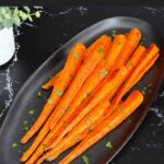
[[(112, 16), (134, 16), (150, 22), (164, 37), (164, 7), (73, 5), (44, 8), (40, 19), (14, 28), (14, 58), (0, 67), (0, 124), (26, 81), (56, 49), (93, 23)], [(164, 163), (164, 84), (132, 139), (112, 164)]]

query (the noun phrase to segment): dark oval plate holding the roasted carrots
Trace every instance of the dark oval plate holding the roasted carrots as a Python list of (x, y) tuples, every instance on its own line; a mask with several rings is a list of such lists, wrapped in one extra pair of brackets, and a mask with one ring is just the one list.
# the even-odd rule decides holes
[[(149, 23), (139, 19), (127, 16), (106, 19), (84, 30), (58, 49), (30, 77), (17, 93), (0, 131), (1, 164), (17, 164), (22, 152), (32, 143), (31, 141), (27, 145), (20, 144), (20, 139), (25, 133), (25, 131), (21, 130), (22, 124), (24, 120), (27, 120), (30, 122), (28, 126), (31, 126), (39, 115), (50, 91), (42, 91), (42, 97), (37, 97), (37, 92), (40, 90), (42, 84), (44, 84), (50, 75), (55, 74), (62, 68), (70, 48), (78, 42), (84, 43), (87, 46), (102, 34), (110, 35), (112, 30), (116, 30), (117, 33), (125, 33), (133, 27), (141, 31), (142, 44), (149, 45), (150, 43), (155, 43), (161, 48), (161, 56), (156, 63), (136, 85), (136, 87), (140, 91), (144, 87), (148, 89), (144, 102), (139, 109), (136, 110), (117, 129), (90, 148), (86, 152), (84, 152), (84, 154), (89, 156), (90, 163), (103, 164), (109, 162), (122, 149), (142, 122), (164, 77), (164, 40)], [(30, 115), (30, 109), (34, 109), (35, 114)], [(105, 147), (107, 141), (112, 142), (112, 150)], [(13, 149), (13, 142), (19, 143), (19, 147)], [(22, 151), (21, 153), (20, 150)], [(68, 151), (66, 153), (68, 153)], [(63, 153), (55, 162), (57, 163), (61, 160), (66, 153)], [(78, 157), (73, 163), (79, 164), (83, 162), (81, 157)]]

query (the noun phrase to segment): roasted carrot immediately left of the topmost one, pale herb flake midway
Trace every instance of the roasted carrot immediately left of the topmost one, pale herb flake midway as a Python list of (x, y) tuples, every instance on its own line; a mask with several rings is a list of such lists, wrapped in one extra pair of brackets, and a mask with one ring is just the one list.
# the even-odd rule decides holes
[(67, 119), (71, 116), (71, 114), (75, 110), (75, 108), (81, 104), (81, 102), (83, 102), (85, 98), (87, 98), (91, 95), (93, 90), (98, 85), (98, 83), (101, 83), (101, 81), (110, 71), (110, 68), (113, 67), (117, 56), (121, 51), (125, 43), (126, 43), (125, 35), (117, 35), (115, 37), (105, 57), (105, 60), (102, 60), (102, 62), (97, 65), (97, 67), (92, 72), (92, 74), (86, 79), (81, 90), (78, 92), (73, 102), (69, 106), (69, 110), (61, 117), (61, 119), (59, 120), (57, 125), (54, 124), (52, 121), (50, 125), (50, 129), (52, 129), (54, 127), (56, 128), (56, 130), (59, 129), (62, 126), (62, 122), (67, 121)]

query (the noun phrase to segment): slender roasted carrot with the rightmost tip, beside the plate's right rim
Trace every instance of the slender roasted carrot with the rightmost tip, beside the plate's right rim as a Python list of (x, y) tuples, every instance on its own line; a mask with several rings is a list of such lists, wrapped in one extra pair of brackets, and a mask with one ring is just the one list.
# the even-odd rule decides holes
[[(143, 74), (140, 74), (140, 72), (142, 70), (150, 69), (150, 67), (152, 65), (149, 66), (149, 63), (156, 56), (157, 52), (159, 52), (159, 48), (155, 45), (151, 45), (150, 48), (147, 50), (147, 52), (141, 58), (140, 65), (138, 67), (136, 67), (134, 71), (131, 73), (131, 75), (128, 78), (126, 83), (120, 87), (119, 92), (116, 94), (113, 106), (109, 109), (110, 113), (114, 110), (114, 108), (117, 106), (117, 104), (120, 102), (122, 96), (127, 93), (127, 91), (129, 91), (133, 86), (133, 84), (136, 82), (138, 82), (136, 80), (140, 80), (140, 78), (143, 75)], [(129, 66), (130, 66), (130, 62), (127, 63), (127, 67), (129, 67)], [(140, 78), (138, 78), (138, 77), (140, 77)], [(109, 112), (107, 112), (107, 113), (109, 113)]]

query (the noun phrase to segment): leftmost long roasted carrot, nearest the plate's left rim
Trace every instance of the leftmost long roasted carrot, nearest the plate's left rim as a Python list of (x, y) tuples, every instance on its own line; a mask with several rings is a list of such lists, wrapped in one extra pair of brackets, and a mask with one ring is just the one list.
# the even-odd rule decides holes
[[(46, 121), (46, 119), (52, 112), (54, 107), (59, 102), (62, 93), (66, 91), (67, 86), (71, 82), (70, 74), (74, 74), (78, 71), (81, 65), (81, 61), (84, 58), (84, 51), (85, 51), (85, 46), (82, 44), (77, 44), (71, 49), (69, 57), (68, 57), (68, 62), (65, 65), (65, 68), (62, 70), (65, 75), (59, 78), (60, 83), (57, 83), (56, 86), (54, 87), (52, 93), (50, 94), (50, 98), (44, 106), (42, 114), (36, 119), (32, 128), (22, 138), (21, 143), (26, 143)], [(74, 60), (74, 55), (79, 56), (79, 60)]]

